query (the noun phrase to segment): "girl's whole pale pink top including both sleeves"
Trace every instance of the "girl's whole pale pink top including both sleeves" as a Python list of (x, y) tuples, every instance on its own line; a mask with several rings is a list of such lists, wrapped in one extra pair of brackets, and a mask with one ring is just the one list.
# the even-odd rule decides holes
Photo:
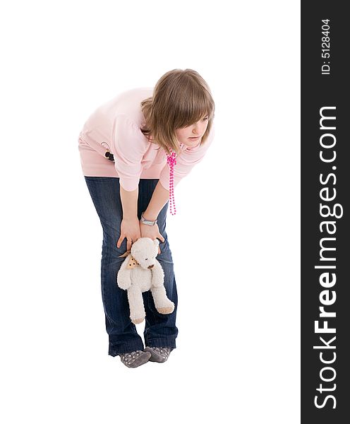
[[(119, 177), (126, 191), (138, 187), (140, 179), (159, 179), (169, 190), (170, 165), (166, 152), (148, 141), (140, 127), (145, 124), (140, 102), (152, 96), (153, 88), (134, 88), (97, 107), (85, 122), (78, 137), (83, 175)], [(174, 165), (174, 186), (203, 159), (214, 138), (214, 126), (203, 146), (180, 143), (181, 153)], [(157, 150), (158, 149), (158, 150)], [(106, 158), (110, 151), (114, 161)]]

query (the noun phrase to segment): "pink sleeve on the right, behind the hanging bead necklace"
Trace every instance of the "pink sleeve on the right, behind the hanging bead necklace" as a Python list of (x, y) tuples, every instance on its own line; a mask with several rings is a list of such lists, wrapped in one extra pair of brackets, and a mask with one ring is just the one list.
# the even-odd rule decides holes
[[(186, 150), (182, 151), (179, 156), (176, 158), (176, 165), (174, 165), (174, 187), (181, 181), (183, 177), (188, 175), (192, 168), (204, 158), (205, 153), (207, 153), (207, 149), (214, 139), (214, 123), (212, 124), (212, 128), (210, 129), (210, 134), (207, 138), (207, 141), (203, 144), (203, 146), (197, 146), (193, 148), (186, 148)], [(159, 177), (160, 184), (164, 187), (164, 189), (169, 190), (169, 165), (165, 164), (162, 172)]]

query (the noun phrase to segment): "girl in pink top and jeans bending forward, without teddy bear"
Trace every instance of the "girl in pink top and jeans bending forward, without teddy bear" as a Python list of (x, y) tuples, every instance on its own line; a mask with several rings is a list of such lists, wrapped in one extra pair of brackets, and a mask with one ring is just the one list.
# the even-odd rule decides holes
[[(202, 160), (214, 136), (215, 103), (191, 69), (165, 73), (155, 88), (127, 90), (98, 107), (78, 139), (83, 175), (103, 230), (101, 288), (109, 355), (127, 367), (164, 362), (176, 348), (177, 292), (167, 232), (175, 215), (174, 188)], [(145, 349), (116, 283), (124, 258), (140, 237), (159, 239), (157, 260), (174, 312), (159, 314), (143, 293)]]

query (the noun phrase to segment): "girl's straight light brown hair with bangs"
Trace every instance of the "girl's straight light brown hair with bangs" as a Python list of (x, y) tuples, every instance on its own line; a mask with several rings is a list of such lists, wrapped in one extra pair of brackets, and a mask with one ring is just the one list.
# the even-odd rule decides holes
[[(175, 130), (189, 126), (203, 117), (208, 117), (207, 130), (200, 146), (205, 143), (215, 116), (215, 103), (207, 83), (193, 69), (173, 69), (159, 78), (153, 95), (141, 102), (145, 125), (140, 130), (153, 143), (181, 153)], [(160, 148), (160, 147), (159, 147)]]

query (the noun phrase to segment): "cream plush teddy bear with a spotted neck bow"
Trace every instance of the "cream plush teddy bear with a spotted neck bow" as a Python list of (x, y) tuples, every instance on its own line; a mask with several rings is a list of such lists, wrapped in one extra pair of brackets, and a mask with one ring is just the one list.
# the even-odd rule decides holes
[(142, 293), (151, 290), (155, 307), (160, 314), (171, 314), (174, 302), (167, 298), (164, 287), (164, 271), (157, 261), (159, 240), (140, 237), (131, 250), (119, 257), (126, 257), (118, 271), (116, 281), (120, 288), (127, 290), (130, 319), (140, 324), (145, 319)]

